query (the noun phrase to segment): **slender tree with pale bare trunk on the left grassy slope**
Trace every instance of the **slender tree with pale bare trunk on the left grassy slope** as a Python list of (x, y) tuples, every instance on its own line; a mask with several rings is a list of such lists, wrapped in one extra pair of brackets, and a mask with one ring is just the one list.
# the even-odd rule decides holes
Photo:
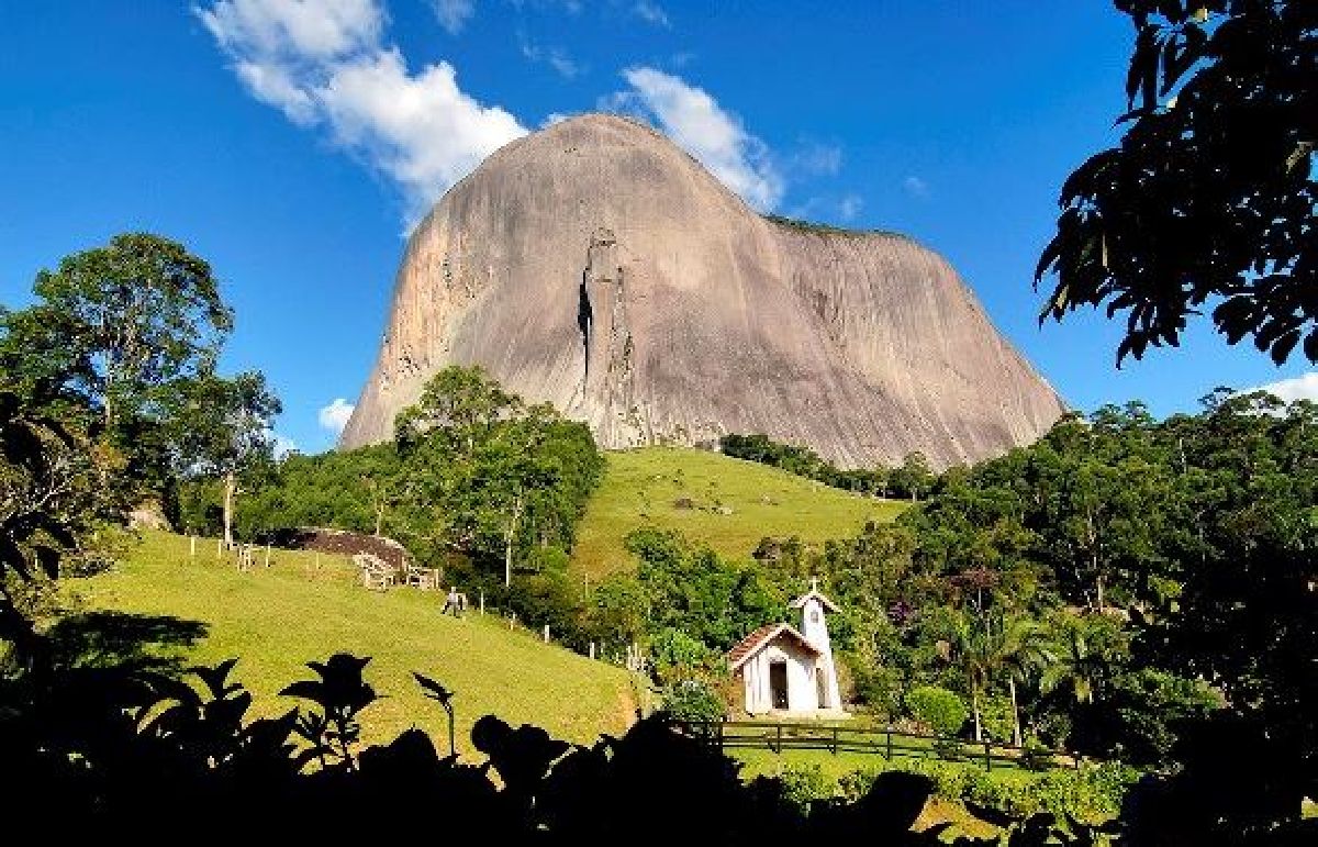
[(224, 484), (224, 544), (233, 546), (233, 503), (240, 479), (274, 458), (273, 418), (279, 398), (270, 393), (260, 372), (233, 379), (203, 376), (188, 385), (183, 402), (179, 464), (215, 476)]

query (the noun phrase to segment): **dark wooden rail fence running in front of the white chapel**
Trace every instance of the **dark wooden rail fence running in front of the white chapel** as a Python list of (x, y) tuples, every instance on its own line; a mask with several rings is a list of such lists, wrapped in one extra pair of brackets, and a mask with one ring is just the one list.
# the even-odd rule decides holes
[(720, 751), (742, 748), (782, 753), (786, 749), (821, 749), (834, 755), (873, 753), (888, 760), (907, 756), (974, 761), (986, 770), (992, 770), (994, 767), (1020, 768), (1028, 757), (1035, 768), (1079, 768), (1079, 759), (1065, 751), (1025, 749), (1011, 744), (966, 741), (899, 730), (759, 720), (684, 720), (677, 722), (676, 728)]

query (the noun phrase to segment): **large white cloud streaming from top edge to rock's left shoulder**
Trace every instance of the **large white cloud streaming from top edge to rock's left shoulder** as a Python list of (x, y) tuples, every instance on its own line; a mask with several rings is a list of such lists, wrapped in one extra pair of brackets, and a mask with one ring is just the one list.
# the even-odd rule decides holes
[(196, 13), (254, 98), (393, 179), (410, 222), (527, 132), (459, 88), (448, 62), (411, 71), (384, 41), (378, 0), (215, 0)]

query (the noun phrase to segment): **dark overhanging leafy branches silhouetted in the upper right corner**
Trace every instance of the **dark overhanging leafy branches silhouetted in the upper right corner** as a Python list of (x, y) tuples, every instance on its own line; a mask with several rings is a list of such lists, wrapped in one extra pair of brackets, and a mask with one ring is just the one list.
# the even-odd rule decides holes
[(1040, 319), (1126, 315), (1116, 351), (1217, 330), (1318, 361), (1318, 4), (1116, 0), (1136, 26), (1126, 135), (1062, 186)]

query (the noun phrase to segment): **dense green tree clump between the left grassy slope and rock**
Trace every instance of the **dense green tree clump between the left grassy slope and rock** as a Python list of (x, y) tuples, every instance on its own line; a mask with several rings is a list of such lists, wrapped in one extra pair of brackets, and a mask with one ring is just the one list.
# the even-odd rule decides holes
[[(565, 570), (602, 470), (584, 425), (527, 406), (478, 367), (451, 367), (399, 414), (394, 443), (279, 462), (240, 503), (237, 530), (246, 540), (298, 526), (384, 534), (503, 604), (514, 571), (534, 580)], [(181, 525), (217, 532), (220, 497), (204, 480), (185, 489)]]

